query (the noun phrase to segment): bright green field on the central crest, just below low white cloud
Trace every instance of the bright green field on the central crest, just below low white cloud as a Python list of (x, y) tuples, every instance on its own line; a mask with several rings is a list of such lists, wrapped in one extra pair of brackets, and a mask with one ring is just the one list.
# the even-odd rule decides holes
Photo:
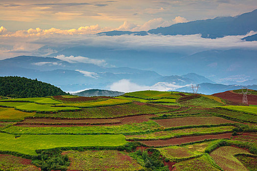
[(146, 100), (154, 100), (154, 99), (161, 99), (161, 98), (172, 98), (177, 99), (181, 97), (178, 94), (174, 94), (173, 92), (168, 91), (153, 91), (153, 90), (146, 90), (146, 91), (136, 91), (125, 93), (123, 96), (131, 96), (134, 98), (141, 98)]

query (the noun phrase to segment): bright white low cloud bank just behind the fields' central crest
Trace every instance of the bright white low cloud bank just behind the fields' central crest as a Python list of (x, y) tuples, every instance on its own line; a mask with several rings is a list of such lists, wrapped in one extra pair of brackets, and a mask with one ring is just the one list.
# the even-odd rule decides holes
[[(183, 86), (186, 86), (186, 85), (183, 85)], [(130, 80), (127, 80), (127, 79), (122, 79), (113, 83), (107, 88), (114, 91), (133, 92), (133, 91), (141, 91), (141, 90), (167, 91), (171, 89), (180, 88), (183, 86), (173, 85), (173, 84), (164, 83), (164, 82), (159, 82), (152, 86), (146, 86), (146, 85), (138, 85), (136, 83), (132, 83), (130, 82)]]

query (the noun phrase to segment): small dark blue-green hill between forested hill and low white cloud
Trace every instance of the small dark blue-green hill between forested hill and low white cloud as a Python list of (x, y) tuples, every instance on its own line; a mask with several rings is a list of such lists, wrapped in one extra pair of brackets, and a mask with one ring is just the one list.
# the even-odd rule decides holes
[(120, 91), (111, 91), (111, 90), (101, 90), (101, 89), (89, 89), (89, 90), (84, 90), (81, 92), (77, 93), (72, 93), (73, 95), (77, 96), (85, 96), (85, 97), (91, 97), (91, 96), (121, 96), (125, 94), (124, 92)]

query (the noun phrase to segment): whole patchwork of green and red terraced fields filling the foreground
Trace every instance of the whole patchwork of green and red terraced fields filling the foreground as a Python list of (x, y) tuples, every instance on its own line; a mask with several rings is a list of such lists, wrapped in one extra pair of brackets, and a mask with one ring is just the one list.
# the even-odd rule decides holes
[(255, 171), (257, 109), (224, 102), (149, 90), (0, 100), (0, 171)]

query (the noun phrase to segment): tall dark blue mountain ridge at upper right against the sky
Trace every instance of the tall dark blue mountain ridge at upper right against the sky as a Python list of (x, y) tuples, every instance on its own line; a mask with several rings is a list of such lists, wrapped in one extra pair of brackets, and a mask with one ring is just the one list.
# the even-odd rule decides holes
[(201, 34), (203, 38), (221, 38), (232, 35), (245, 35), (250, 31), (257, 31), (257, 9), (244, 13), (236, 17), (216, 17), (215, 19), (189, 21), (177, 23), (168, 27), (159, 27), (147, 32), (111, 31), (103, 32), (107, 36), (117, 36), (122, 34), (135, 34), (144, 36), (150, 34), (162, 35), (192, 35)]

